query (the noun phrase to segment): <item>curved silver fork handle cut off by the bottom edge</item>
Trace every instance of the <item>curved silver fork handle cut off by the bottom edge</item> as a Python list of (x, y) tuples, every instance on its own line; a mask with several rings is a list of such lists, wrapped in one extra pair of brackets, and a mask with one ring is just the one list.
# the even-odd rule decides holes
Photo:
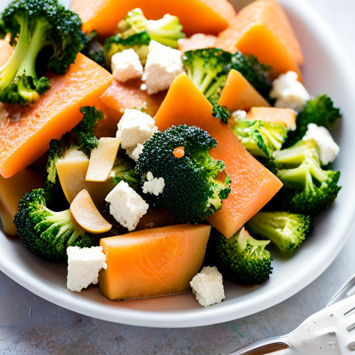
[[(291, 345), (288, 344), (284, 337), (275, 336), (254, 341), (235, 352), (230, 352), (225, 355), (263, 355), (277, 352), (282, 349), (291, 349)], [(283, 354), (285, 354), (285, 352), (283, 352)]]

